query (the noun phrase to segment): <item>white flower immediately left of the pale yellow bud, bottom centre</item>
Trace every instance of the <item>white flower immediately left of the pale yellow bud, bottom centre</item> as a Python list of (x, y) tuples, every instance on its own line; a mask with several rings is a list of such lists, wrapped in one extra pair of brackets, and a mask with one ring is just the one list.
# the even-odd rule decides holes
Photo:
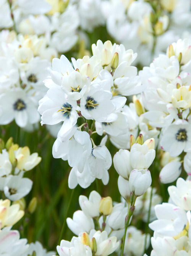
[(101, 196), (96, 191), (92, 191), (89, 195), (89, 200), (86, 196), (79, 196), (79, 205), (83, 210), (84, 214), (90, 217), (98, 217), (100, 215), (99, 212), (99, 202), (101, 200)]

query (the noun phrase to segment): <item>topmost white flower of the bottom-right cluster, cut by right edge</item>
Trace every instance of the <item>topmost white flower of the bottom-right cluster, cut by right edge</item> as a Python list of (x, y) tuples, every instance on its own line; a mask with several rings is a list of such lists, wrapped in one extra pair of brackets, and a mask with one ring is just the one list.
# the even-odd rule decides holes
[(191, 210), (191, 181), (178, 178), (176, 186), (169, 186), (168, 193), (175, 205), (189, 211)]

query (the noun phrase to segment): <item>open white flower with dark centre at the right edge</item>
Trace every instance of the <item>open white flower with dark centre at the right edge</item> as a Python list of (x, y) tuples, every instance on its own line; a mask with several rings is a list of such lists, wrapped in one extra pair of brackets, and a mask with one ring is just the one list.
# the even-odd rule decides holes
[(189, 122), (183, 119), (173, 122), (172, 125), (163, 130), (160, 145), (172, 157), (180, 155), (183, 150), (189, 152), (191, 149), (191, 128)]

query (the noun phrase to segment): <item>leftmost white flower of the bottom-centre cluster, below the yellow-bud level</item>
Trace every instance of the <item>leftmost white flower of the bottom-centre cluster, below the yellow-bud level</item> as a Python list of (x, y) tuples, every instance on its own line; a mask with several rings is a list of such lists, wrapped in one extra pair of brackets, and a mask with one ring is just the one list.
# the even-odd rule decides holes
[(68, 228), (77, 236), (82, 232), (89, 233), (90, 230), (94, 229), (93, 219), (85, 215), (81, 210), (75, 211), (73, 219), (67, 218), (66, 222)]

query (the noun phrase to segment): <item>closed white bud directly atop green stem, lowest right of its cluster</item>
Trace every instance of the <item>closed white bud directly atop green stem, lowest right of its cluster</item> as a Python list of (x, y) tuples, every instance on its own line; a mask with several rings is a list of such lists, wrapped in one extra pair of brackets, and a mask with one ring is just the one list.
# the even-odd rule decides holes
[(133, 170), (129, 176), (129, 188), (137, 197), (143, 195), (151, 186), (152, 178), (149, 170)]

